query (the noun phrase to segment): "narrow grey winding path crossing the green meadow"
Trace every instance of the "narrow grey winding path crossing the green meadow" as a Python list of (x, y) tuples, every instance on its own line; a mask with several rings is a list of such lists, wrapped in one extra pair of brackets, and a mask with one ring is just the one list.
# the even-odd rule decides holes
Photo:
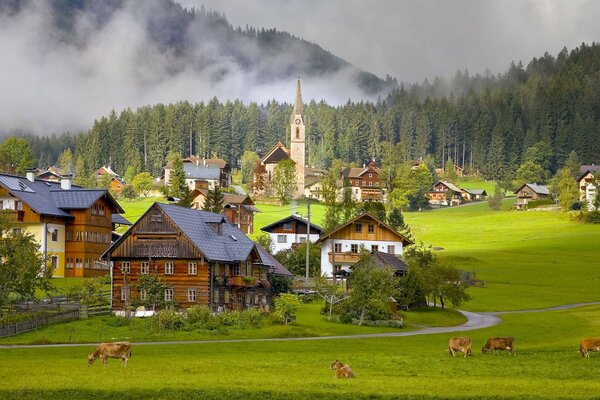
[[(489, 328), (490, 326), (498, 325), (502, 319), (498, 315), (502, 314), (520, 314), (520, 313), (535, 313), (546, 311), (567, 310), (576, 307), (585, 307), (591, 305), (599, 305), (600, 301), (590, 303), (565, 304), (561, 306), (540, 308), (535, 310), (515, 310), (515, 311), (495, 311), (495, 312), (459, 312), (467, 317), (467, 322), (457, 326), (444, 326), (435, 328), (423, 328), (416, 331), (404, 332), (389, 332), (389, 333), (371, 333), (364, 335), (348, 335), (348, 336), (314, 336), (301, 338), (272, 338), (272, 339), (222, 339), (222, 340), (182, 340), (182, 341), (166, 341), (166, 342), (136, 342), (136, 346), (160, 346), (166, 344), (203, 344), (203, 343), (244, 343), (244, 342), (288, 342), (288, 341), (310, 341), (310, 340), (338, 340), (338, 339), (368, 339), (380, 337), (400, 337), (400, 336), (416, 336), (416, 335), (432, 335), (437, 333), (464, 332), (475, 329)], [(65, 344), (41, 344), (41, 345), (0, 345), (0, 349), (19, 349), (19, 348), (43, 348), (43, 347), (90, 347), (97, 343), (65, 343)]]

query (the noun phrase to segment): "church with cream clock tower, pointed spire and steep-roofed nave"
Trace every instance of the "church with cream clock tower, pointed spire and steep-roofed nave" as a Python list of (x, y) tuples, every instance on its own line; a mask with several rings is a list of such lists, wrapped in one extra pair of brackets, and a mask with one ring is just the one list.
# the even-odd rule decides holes
[(304, 105), (302, 103), (302, 92), (300, 79), (296, 83), (296, 100), (294, 110), (290, 116), (290, 148), (278, 142), (261, 160), (260, 165), (254, 171), (254, 182), (252, 191), (257, 195), (267, 194), (273, 179), (275, 167), (283, 160), (291, 159), (296, 167), (296, 190), (294, 198), (304, 196), (306, 179), (306, 119), (304, 116)]

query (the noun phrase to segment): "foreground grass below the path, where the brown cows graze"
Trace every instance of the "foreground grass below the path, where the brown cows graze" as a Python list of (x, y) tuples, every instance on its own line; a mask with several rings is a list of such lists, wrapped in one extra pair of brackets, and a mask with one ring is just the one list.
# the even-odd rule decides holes
[[(600, 357), (577, 354), (597, 334), (600, 307), (505, 315), (470, 334), (473, 356), (450, 357), (451, 335), (134, 344), (126, 368), (86, 366), (94, 346), (0, 349), (0, 397), (12, 399), (587, 399), (600, 391)], [(464, 335), (464, 333), (461, 333)], [(511, 335), (517, 355), (482, 355), (486, 338)], [(335, 379), (329, 363), (356, 378)], [(43, 360), (43, 362), (41, 361)]]

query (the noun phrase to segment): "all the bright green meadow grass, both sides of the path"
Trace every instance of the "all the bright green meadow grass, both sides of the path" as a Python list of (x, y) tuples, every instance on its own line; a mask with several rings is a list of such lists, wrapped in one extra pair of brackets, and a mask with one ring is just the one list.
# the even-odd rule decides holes
[[(488, 190), (478, 182), (471, 187)], [(404, 214), (417, 242), (434, 246), (438, 257), (485, 281), (485, 287), (469, 289), (473, 298), (461, 308), (527, 310), (600, 300), (600, 227), (555, 211), (508, 211), (510, 202), (503, 211), (480, 203)], [(141, 215), (150, 204), (123, 207), (128, 215)], [(263, 211), (256, 216), (257, 227), (295, 211), (306, 214), (303, 202), (257, 207)], [(323, 206), (311, 203), (311, 212), (320, 223)], [(0, 345), (128, 339), (134, 346), (126, 368), (118, 360), (111, 360), (109, 367), (97, 362), (88, 368), (92, 344), (1, 348), (0, 398), (600, 398), (600, 355), (583, 359), (577, 353), (581, 339), (600, 336), (600, 306), (502, 314), (497, 326), (454, 334), (335, 339), (324, 337), (398, 330), (329, 322), (318, 313), (319, 307), (304, 305), (289, 327), (151, 334), (143, 325), (148, 321), (123, 327), (111, 326), (110, 318), (95, 318), (2, 339)], [(464, 321), (454, 312), (438, 310), (413, 311), (404, 318), (409, 327), (401, 332)], [(451, 336), (471, 337), (473, 355), (448, 356)], [(490, 336), (514, 337), (517, 355), (482, 354)], [(170, 340), (175, 342), (147, 343)], [(177, 343), (184, 340), (206, 342)], [(356, 378), (335, 379), (329, 369), (334, 359), (348, 363)]]

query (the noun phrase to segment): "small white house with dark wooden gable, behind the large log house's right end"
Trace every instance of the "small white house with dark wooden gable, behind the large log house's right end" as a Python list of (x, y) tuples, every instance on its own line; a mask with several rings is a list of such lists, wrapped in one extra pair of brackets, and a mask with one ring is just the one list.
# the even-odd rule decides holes
[[(289, 217), (262, 227), (260, 230), (269, 234), (273, 246), (273, 254), (277, 254), (282, 250), (291, 249), (300, 243), (306, 243), (308, 221), (298, 215), (292, 214)], [(310, 233), (308, 233), (309, 240), (313, 243), (316, 242), (322, 232), (323, 228), (311, 222)]]

